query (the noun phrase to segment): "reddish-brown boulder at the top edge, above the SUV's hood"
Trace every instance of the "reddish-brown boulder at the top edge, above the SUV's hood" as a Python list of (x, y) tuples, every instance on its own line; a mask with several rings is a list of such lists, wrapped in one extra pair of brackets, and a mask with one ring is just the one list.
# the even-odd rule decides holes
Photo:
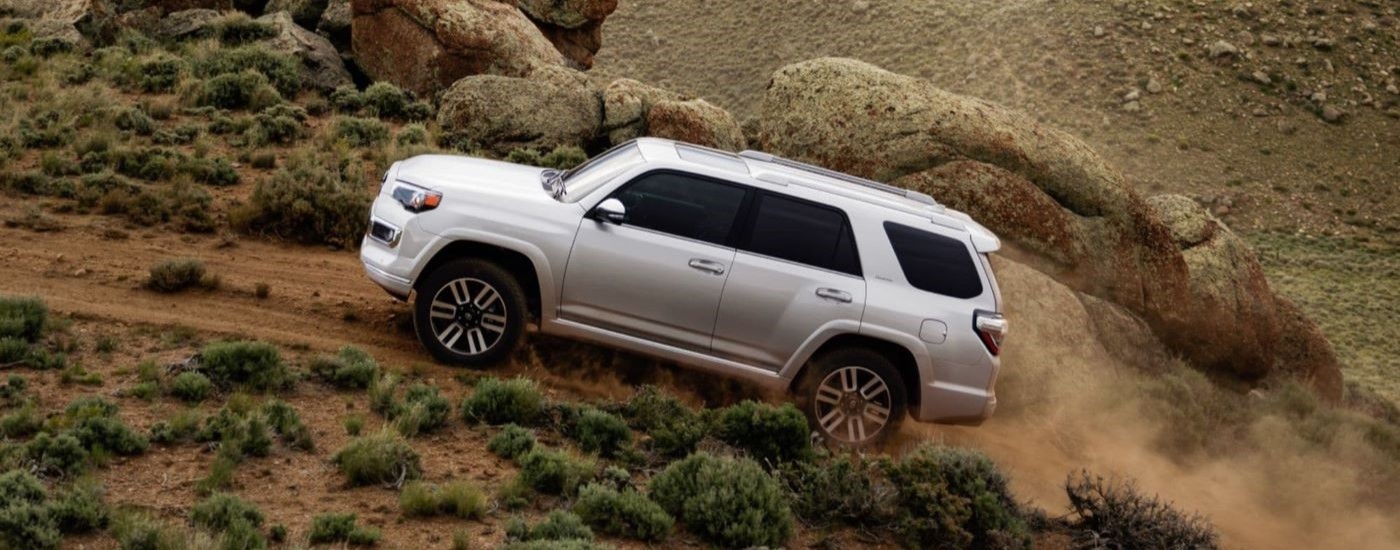
[(564, 56), (512, 4), (494, 0), (351, 0), (358, 64), (419, 95), (462, 77), (524, 77)]

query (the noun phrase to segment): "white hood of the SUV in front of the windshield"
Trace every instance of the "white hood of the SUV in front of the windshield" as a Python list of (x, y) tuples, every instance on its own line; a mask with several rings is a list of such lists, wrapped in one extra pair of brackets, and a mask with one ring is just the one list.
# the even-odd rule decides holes
[(399, 182), (442, 192), (553, 200), (540, 182), (545, 168), (462, 155), (419, 155), (398, 162), (391, 176)]

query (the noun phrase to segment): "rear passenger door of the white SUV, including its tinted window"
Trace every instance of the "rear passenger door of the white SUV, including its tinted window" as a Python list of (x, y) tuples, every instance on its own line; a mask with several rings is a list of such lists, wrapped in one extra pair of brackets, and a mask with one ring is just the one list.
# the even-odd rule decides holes
[(825, 326), (857, 329), (865, 280), (846, 213), (759, 192), (720, 299), (714, 351), (780, 369)]

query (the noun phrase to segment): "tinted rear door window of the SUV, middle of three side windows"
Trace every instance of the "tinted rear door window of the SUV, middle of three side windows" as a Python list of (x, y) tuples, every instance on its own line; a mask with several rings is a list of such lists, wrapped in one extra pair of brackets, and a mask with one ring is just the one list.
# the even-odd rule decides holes
[(840, 210), (777, 195), (759, 195), (743, 249), (860, 277), (851, 227)]

